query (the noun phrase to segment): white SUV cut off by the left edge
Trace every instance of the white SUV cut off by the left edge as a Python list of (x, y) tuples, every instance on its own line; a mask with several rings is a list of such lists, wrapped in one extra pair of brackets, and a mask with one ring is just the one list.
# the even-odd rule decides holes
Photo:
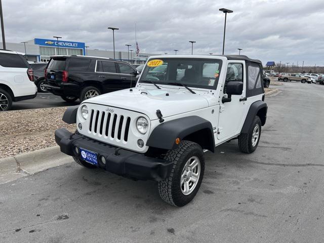
[(33, 71), (18, 52), (0, 50), (0, 111), (10, 110), (13, 101), (35, 98)]

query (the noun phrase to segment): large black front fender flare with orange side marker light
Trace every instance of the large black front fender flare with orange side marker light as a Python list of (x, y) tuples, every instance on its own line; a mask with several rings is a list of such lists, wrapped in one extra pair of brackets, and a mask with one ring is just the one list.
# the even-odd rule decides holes
[[(196, 134), (195, 134), (196, 133)], [(214, 152), (215, 139), (210, 121), (199, 116), (187, 116), (158, 125), (150, 134), (146, 146), (160, 149), (175, 149), (176, 138), (198, 143), (203, 149)]]

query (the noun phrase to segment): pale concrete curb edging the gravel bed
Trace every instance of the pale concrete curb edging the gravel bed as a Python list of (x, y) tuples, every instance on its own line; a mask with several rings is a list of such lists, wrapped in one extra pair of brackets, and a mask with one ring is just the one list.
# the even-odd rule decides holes
[(62, 153), (59, 146), (1, 158), (0, 184), (64, 165), (71, 161), (71, 156)]

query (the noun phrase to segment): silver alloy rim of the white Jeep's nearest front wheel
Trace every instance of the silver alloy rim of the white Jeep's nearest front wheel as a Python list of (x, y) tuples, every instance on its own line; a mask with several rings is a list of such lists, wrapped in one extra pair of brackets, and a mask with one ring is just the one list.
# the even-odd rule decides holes
[(197, 156), (190, 157), (183, 167), (180, 179), (181, 192), (189, 195), (198, 184), (201, 171), (200, 160)]

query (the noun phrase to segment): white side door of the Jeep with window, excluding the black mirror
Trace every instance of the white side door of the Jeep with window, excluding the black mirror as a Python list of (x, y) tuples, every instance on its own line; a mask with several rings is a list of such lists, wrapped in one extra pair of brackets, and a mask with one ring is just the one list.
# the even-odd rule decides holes
[(227, 72), (224, 82), (224, 89), (220, 93), (220, 98), (228, 97), (226, 86), (229, 82), (242, 82), (243, 92), (241, 95), (232, 95), (231, 101), (220, 103), (217, 139), (225, 140), (237, 135), (244, 123), (246, 110), (249, 107), (245, 101), (240, 99), (246, 97), (246, 75), (244, 61), (230, 61), (227, 63)]

